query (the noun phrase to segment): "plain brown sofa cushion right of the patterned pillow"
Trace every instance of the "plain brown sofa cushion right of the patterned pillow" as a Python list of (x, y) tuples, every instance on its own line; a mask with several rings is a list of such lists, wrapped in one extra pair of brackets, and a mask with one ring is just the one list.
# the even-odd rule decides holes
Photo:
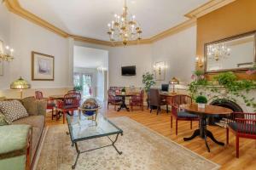
[(21, 100), (22, 105), (24, 105), (28, 115), (38, 115), (38, 108), (37, 108), (37, 100), (35, 97), (27, 97)]

